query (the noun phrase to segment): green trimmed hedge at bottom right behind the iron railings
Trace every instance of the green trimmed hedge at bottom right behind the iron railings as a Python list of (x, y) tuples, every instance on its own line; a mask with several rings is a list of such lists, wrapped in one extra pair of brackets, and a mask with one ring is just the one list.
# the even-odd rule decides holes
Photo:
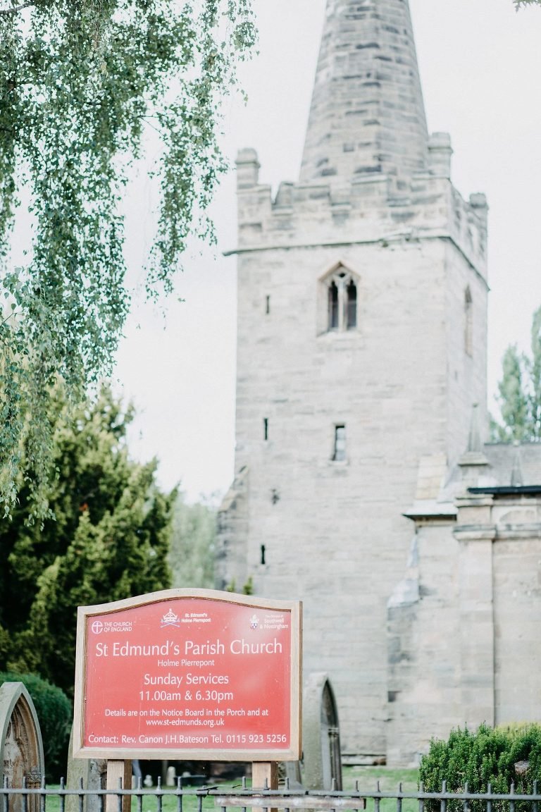
[[(421, 759), (419, 784), (435, 793), (442, 781), (447, 782), (448, 792), (461, 791), (467, 783), (470, 793), (487, 792), (488, 784), (493, 793), (509, 793), (511, 784), (516, 793), (532, 793), (534, 781), (541, 788), (541, 726), (525, 723), (489, 728), (482, 724), (474, 733), (458, 728), (447, 741), (433, 739)], [(472, 804), (472, 810), (476, 805)], [(439, 806), (437, 802), (432, 808)], [(449, 808), (453, 806), (454, 802)]]

